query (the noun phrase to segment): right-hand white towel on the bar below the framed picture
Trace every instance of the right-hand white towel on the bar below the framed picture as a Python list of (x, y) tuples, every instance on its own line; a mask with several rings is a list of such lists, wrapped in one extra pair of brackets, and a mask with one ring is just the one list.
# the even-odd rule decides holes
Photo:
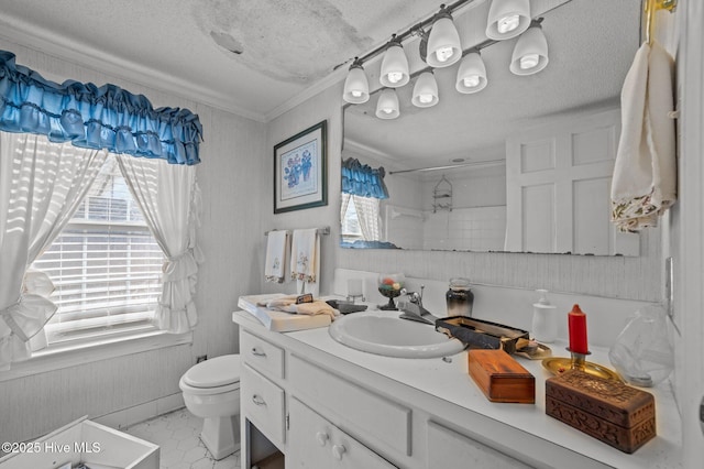
[[(296, 291), (319, 293), (320, 237), (316, 228), (294, 230), (290, 248), (290, 276), (296, 280)], [(308, 284), (308, 288), (306, 288)]]

